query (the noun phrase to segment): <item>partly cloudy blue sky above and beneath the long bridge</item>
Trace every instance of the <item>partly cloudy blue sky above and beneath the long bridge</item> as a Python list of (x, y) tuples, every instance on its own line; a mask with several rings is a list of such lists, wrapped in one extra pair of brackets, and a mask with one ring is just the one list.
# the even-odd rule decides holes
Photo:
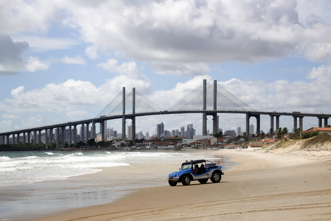
[[(93, 118), (122, 87), (167, 110), (203, 79), (256, 110), (330, 113), (330, 11), (328, 0), (0, 0), (0, 131)], [(219, 127), (245, 131), (245, 119), (219, 114)], [(202, 114), (136, 117), (136, 132), (161, 122), (202, 134)]]

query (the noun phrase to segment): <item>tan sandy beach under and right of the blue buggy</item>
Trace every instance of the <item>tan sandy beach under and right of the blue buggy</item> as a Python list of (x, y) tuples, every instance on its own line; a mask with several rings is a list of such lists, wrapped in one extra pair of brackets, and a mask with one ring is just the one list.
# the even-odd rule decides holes
[[(220, 183), (131, 189), (113, 203), (30, 220), (331, 220), (330, 151), (263, 152), (253, 148), (213, 151), (242, 163), (225, 172)], [(170, 173), (178, 167), (146, 168), (144, 173)], [(100, 178), (109, 172), (88, 176)]]

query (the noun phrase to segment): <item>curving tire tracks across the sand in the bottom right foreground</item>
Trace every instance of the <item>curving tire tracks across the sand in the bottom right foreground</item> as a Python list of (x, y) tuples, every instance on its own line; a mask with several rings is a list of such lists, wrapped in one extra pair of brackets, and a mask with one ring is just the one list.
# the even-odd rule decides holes
[[(331, 208), (330, 200), (321, 199), (321, 202), (307, 202), (305, 204), (298, 204), (298, 202), (303, 202), (300, 198), (321, 195), (324, 196), (323, 199), (331, 198), (331, 189), (324, 190), (314, 190), (314, 191), (302, 191), (302, 192), (292, 192), (292, 193), (282, 193), (282, 194), (271, 194), (271, 195), (261, 195), (246, 198), (236, 198), (227, 200), (217, 200), (217, 201), (207, 201), (200, 203), (190, 203), (190, 204), (179, 204), (164, 207), (151, 207), (145, 209), (134, 209), (126, 210), (120, 212), (105, 213), (87, 217), (81, 217), (74, 220), (164, 220), (164, 221), (175, 221), (175, 220), (193, 220), (201, 218), (212, 218), (212, 217), (222, 217), (231, 216), (237, 214), (253, 214), (253, 213), (266, 213), (266, 212), (277, 212), (285, 210), (302, 210), (302, 209), (323, 209)], [(330, 195), (330, 196), (329, 196)], [(283, 205), (279, 201), (295, 199), (297, 203), (290, 205)], [(266, 206), (265, 201), (268, 201)], [(247, 204), (254, 202), (254, 206), (247, 206)], [(271, 205), (273, 204), (273, 205)], [(288, 204), (288, 202), (287, 202)], [(238, 209), (238, 205), (239, 208)], [(247, 207), (247, 208), (243, 208)], [(203, 216), (201, 216), (201, 210), (203, 210)], [(328, 213), (321, 213), (321, 216), (329, 216)], [(150, 217), (150, 218), (149, 218)], [(306, 217), (308, 218), (308, 216)], [(320, 219), (304, 219), (309, 221), (322, 221), (330, 220), (329, 218)]]

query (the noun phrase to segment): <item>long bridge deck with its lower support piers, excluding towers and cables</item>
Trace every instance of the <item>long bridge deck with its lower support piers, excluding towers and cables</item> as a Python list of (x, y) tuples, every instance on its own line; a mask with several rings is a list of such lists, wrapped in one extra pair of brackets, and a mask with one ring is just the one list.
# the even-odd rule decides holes
[[(323, 113), (300, 113), (300, 112), (275, 112), (275, 111), (202, 111), (202, 110), (196, 110), (196, 111), (158, 111), (158, 112), (147, 112), (147, 113), (134, 113), (134, 114), (122, 114), (122, 115), (116, 115), (116, 116), (108, 116), (108, 117), (100, 117), (100, 118), (92, 118), (92, 119), (85, 119), (85, 120), (78, 120), (78, 121), (72, 121), (72, 122), (66, 122), (66, 123), (59, 123), (59, 124), (53, 124), (53, 125), (46, 125), (46, 126), (40, 126), (40, 127), (32, 127), (27, 129), (21, 129), (21, 130), (14, 130), (14, 131), (6, 131), (1, 132), (0, 137), (2, 137), (2, 144), (5, 142), (5, 136), (7, 136), (7, 141), (9, 141), (9, 136), (13, 135), (13, 144), (15, 142), (15, 134), (19, 138), (20, 134), (23, 133), (23, 140), (25, 140), (25, 133), (27, 133), (28, 136), (28, 142), (30, 141), (30, 133), (34, 132), (34, 137), (36, 136), (36, 132), (39, 131), (39, 141), (38, 143), (41, 143), (41, 131), (45, 130), (45, 137), (46, 137), (46, 144), (52, 144), (53, 137), (51, 134), (53, 134), (53, 129), (58, 128), (57, 131), (59, 131), (59, 128), (62, 128), (62, 131), (65, 130), (67, 126), (69, 126), (69, 141), (74, 141), (76, 143), (76, 136), (77, 132), (74, 133), (74, 137), (71, 137), (71, 126), (73, 126), (74, 130), (76, 131), (76, 126), (81, 124), (82, 128), (84, 128), (84, 124), (86, 124), (86, 128), (89, 128), (89, 124), (92, 123), (93, 131), (91, 134), (95, 134), (95, 123), (101, 123), (102, 124), (102, 140), (104, 140), (104, 121), (105, 120), (112, 120), (112, 119), (124, 119), (124, 128), (122, 128), (122, 132), (124, 131), (125, 134), (125, 120), (126, 119), (132, 119), (135, 121), (135, 117), (138, 116), (148, 116), (148, 115), (161, 115), (161, 114), (183, 114), (183, 113), (203, 113), (204, 115), (213, 115), (215, 116), (217, 113), (239, 113), (239, 114), (246, 114), (246, 133), (249, 134), (249, 119), (250, 117), (256, 117), (257, 119), (257, 135), (259, 135), (260, 132), (260, 115), (269, 115), (270, 116), (270, 128), (274, 128), (274, 117), (276, 117), (276, 130), (279, 128), (279, 116), (293, 116), (294, 118), (294, 125), (293, 128), (297, 127), (297, 118), (299, 117), (299, 127), (302, 130), (302, 119), (303, 117), (317, 117), (318, 118), (318, 125), (319, 127), (322, 127), (322, 119), (324, 119), (324, 127), (327, 125), (327, 119), (331, 117), (331, 114), (323, 114)], [(214, 121), (215, 122), (215, 121)], [(135, 123), (135, 122), (134, 122)], [(213, 133), (215, 133), (214, 129), (218, 128), (213, 126)], [(50, 130), (50, 140), (48, 139), (47, 133), (48, 129)], [(132, 131), (133, 132), (133, 131)], [(135, 131), (133, 132), (135, 134)], [(57, 140), (62, 141), (64, 143), (64, 135), (60, 135), (60, 133), (57, 133)], [(85, 139), (82, 137), (82, 141), (85, 141)], [(17, 139), (16, 144), (19, 144), (19, 139)], [(9, 142), (7, 142), (9, 143)], [(37, 143), (36, 139), (33, 141), (34, 144)]]

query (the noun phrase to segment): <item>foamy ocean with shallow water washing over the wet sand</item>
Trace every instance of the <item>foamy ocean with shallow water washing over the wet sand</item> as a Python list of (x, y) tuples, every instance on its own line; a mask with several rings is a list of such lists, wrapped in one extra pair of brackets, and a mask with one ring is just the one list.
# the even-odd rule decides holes
[(168, 185), (167, 174), (173, 171), (146, 174), (147, 168), (179, 168), (197, 159), (216, 162), (222, 171), (238, 164), (212, 151), (0, 152), (0, 220), (110, 203), (134, 188)]

